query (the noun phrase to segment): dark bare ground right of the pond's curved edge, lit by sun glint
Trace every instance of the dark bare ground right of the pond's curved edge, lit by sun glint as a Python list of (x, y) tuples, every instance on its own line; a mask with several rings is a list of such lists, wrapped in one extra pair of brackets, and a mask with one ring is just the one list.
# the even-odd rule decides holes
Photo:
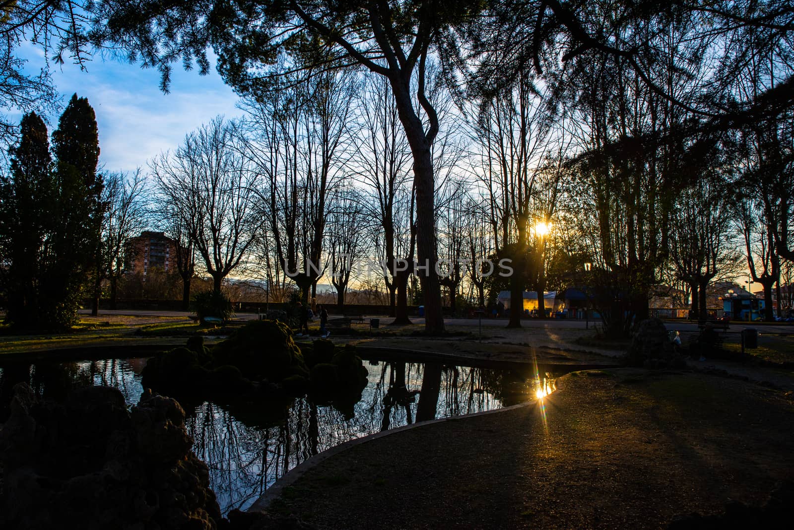
[(794, 474), (781, 392), (627, 370), (558, 387), (544, 406), (360, 444), (270, 509), (318, 528), (660, 528), (730, 500), (759, 504)]

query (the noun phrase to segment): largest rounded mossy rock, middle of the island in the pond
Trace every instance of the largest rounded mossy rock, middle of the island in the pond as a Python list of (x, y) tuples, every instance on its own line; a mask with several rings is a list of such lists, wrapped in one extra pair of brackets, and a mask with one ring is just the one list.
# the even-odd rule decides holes
[(249, 378), (281, 381), (306, 371), (306, 364), (287, 325), (279, 321), (253, 321), (234, 332), (213, 350), (216, 366), (231, 364)]

